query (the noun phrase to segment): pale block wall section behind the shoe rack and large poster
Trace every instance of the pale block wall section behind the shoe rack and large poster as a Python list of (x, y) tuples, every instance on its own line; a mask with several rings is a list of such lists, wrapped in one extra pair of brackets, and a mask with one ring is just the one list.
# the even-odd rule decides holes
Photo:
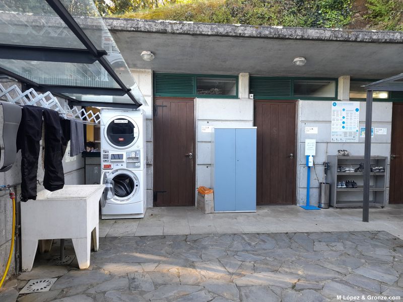
[[(346, 81), (347, 80), (347, 81)], [(339, 79), (339, 97), (348, 98), (349, 77)], [(340, 85), (340, 82), (343, 82)], [(346, 83), (347, 82), (347, 83)], [(343, 90), (340, 90), (340, 87)], [(326, 156), (336, 155), (338, 149), (349, 150), (352, 155), (364, 156), (364, 137), (359, 137), (356, 143), (330, 142), (331, 131), (331, 103), (330, 101), (299, 101), (298, 102), (298, 134), (297, 134), (297, 203), (306, 203), (307, 167), (305, 158), (305, 139), (316, 139), (315, 169), (311, 169), (310, 203), (317, 205), (319, 200), (319, 182), (324, 181), (323, 162)], [(372, 126), (386, 128), (386, 135), (374, 135), (371, 139), (371, 156), (390, 156), (392, 103), (374, 102)], [(365, 127), (365, 102), (360, 102), (360, 127)], [(306, 134), (305, 127), (318, 127), (317, 134)], [(389, 196), (389, 159), (387, 167), (386, 200)], [(315, 174), (316, 172), (316, 174)]]

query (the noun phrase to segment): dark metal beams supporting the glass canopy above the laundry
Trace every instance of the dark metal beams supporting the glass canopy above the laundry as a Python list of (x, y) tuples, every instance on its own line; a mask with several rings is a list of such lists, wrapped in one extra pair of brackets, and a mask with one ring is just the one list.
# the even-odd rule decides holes
[[(10, 77), (13, 77), (24, 84), (27, 84), (36, 89), (43, 91), (50, 91), (53, 93), (77, 93), (77, 94), (91, 94), (91, 95), (108, 95), (108, 96), (124, 96), (127, 95), (133, 105), (119, 104), (120, 107), (127, 105), (135, 108), (143, 105), (136, 97), (131, 93), (131, 89), (126, 87), (123, 81), (116, 74), (109, 61), (105, 58), (108, 54), (104, 49), (98, 49), (94, 43), (90, 40), (87, 34), (83, 31), (80, 25), (76, 22), (74, 17), (63, 6), (60, 0), (45, 0), (48, 5), (55, 11), (60, 19), (66, 26), (74, 33), (74, 35), (85, 46), (83, 49), (77, 48), (59, 48), (59, 47), (46, 47), (46, 46), (28, 46), (28, 45), (11, 45), (0, 44), (0, 58), (1, 59), (15, 59), (15, 60), (28, 60), (28, 61), (48, 61), (48, 62), (66, 62), (66, 63), (85, 63), (92, 64), (98, 61), (110, 77), (117, 83), (120, 88), (99, 88), (99, 87), (80, 87), (80, 86), (68, 86), (68, 85), (41, 85), (33, 82), (27, 78), (22, 77), (15, 72), (0, 67), (0, 72)], [(65, 96), (64, 96), (65, 97)], [(76, 100), (76, 102), (79, 102)], [(92, 102), (86, 102), (91, 103)], [(94, 103), (95, 104), (95, 103)], [(97, 104), (107, 104), (108, 107), (112, 107), (113, 103), (97, 102)], [(80, 104), (83, 106), (83, 102)], [(94, 105), (92, 105), (94, 106)]]

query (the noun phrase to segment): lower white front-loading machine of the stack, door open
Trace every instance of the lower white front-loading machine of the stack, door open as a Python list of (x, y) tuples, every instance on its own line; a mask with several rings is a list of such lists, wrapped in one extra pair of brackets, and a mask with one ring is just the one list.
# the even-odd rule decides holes
[(114, 182), (114, 197), (105, 200), (101, 208), (102, 219), (143, 218), (146, 213), (145, 170), (116, 169), (103, 171), (102, 184)]

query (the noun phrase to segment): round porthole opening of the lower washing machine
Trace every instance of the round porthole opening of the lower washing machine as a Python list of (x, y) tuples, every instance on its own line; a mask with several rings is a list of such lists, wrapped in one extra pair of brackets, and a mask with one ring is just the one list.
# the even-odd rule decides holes
[(105, 179), (114, 183), (114, 197), (107, 203), (133, 203), (133, 198), (139, 193), (140, 183), (136, 174), (130, 170), (117, 169), (105, 175)]

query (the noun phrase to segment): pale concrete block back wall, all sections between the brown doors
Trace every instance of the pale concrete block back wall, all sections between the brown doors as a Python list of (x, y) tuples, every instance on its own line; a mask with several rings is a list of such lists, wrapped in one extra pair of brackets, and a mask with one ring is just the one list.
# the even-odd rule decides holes
[[(153, 206), (153, 73), (148, 69), (131, 69), (133, 77), (139, 84), (148, 106), (147, 112), (147, 207)], [(239, 99), (195, 99), (196, 122), (196, 188), (212, 187), (211, 182), (211, 133), (201, 132), (203, 126), (252, 126), (253, 100), (249, 99), (249, 74), (239, 74)], [(346, 101), (349, 99), (350, 77), (339, 78), (338, 96)], [(365, 103), (360, 104), (360, 127), (364, 126)], [(375, 135), (372, 139), (372, 155), (390, 155), (390, 133), (392, 104), (374, 102), (373, 126), (387, 128), (387, 135)], [(315, 138), (316, 153), (315, 169), (311, 169), (311, 202), (317, 204), (319, 182), (323, 181), (323, 162), (327, 155), (335, 155), (338, 149), (347, 149), (352, 155), (364, 155), (364, 138), (357, 143), (330, 142), (331, 102), (330, 101), (298, 101), (297, 117), (297, 203), (306, 202), (306, 167), (305, 139)], [(305, 127), (318, 127), (318, 134), (305, 134)], [(388, 167), (389, 168), (389, 167)], [(389, 171), (389, 169), (387, 170)], [(316, 172), (316, 174), (315, 174)], [(317, 175), (317, 176), (316, 176)], [(387, 176), (389, 186), (389, 173)], [(388, 189), (386, 198), (388, 199)]]

